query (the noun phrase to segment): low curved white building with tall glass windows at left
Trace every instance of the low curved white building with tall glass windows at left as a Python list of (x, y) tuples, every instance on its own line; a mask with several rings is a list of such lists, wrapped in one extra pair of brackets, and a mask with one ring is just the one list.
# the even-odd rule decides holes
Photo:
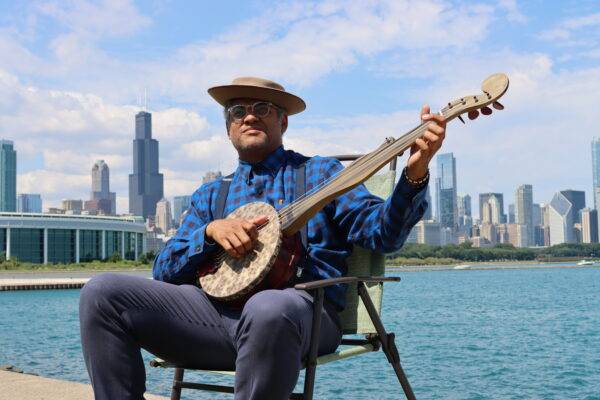
[(146, 252), (140, 217), (0, 212), (0, 251), (31, 263), (79, 263)]

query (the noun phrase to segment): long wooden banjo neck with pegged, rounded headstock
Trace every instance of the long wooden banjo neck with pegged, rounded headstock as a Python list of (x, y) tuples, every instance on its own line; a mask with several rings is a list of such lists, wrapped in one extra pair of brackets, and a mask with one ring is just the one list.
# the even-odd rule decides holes
[[(449, 102), (440, 111), (440, 114), (446, 118), (446, 122), (459, 118), (464, 123), (461, 114), (465, 113), (473, 120), (479, 115), (478, 110), (481, 110), (484, 115), (489, 115), (492, 113), (492, 110), (487, 107), (489, 104), (498, 110), (504, 108), (497, 99), (508, 89), (506, 75), (498, 73), (489, 76), (483, 81), (481, 88), (483, 92), (481, 94), (465, 96)], [(378, 149), (358, 158), (302, 198), (279, 210), (283, 235), (294, 235), (325, 205), (369, 179), (394, 157), (410, 148), (415, 140), (425, 133), (427, 125), (428, 122), (423, 122), (398, 139), (386, 139)]]

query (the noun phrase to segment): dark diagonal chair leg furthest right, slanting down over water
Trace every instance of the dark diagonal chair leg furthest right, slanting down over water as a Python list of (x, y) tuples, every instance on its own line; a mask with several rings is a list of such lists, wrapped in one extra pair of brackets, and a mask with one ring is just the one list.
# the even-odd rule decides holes
[(398, 348), (396, 347), (396, 343), (394, 341), (394, 334), (387, 333), (385, 328), (383, 327), (383, 323), (379, 318), (379, 314), (371, 301), (371, 297), (367, 292), (367, 288), (363, 282), (358, 283), (358, 294), (369, 313), (369, 317), (371, 317), (371, 321), (373, 321), (373, 325), (375, 325), (375, 330), (379, 335), (379, 339), (381, 340), (381, 348), (385, 353), (388, 361), (392, 364), (394, 368), (394, 372), (396, 372), (396, 376), (398, 377), (398, 381), (404, 390), (404, 394), (408, 400), (415, 400), (415, 394), (410, 387), (410, 383), (408, 382), (408, 378), (404, 374), (404, 370), (400, 365), (400, 354), (398, 353)]

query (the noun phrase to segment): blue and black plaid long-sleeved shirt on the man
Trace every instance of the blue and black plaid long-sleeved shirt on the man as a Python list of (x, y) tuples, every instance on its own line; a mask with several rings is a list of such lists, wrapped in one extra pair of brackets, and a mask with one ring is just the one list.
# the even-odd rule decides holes
[[(232, 177), (224, 215), (239, 206), (263, 201), (279, 210), (294, 199), (294, 168), (306, 164), (306, 191), (343, 169), (334, 158), (308, 158), (279, 147), (263, 161), (244, 161)], [(202, 185), (192, 195), (191, 206), (180, 228), (154, 261), (154, 279), (192, 283), (197, 267), (218, 245), (204, 237), (206, 225), (214, 219), (221, 180)], [(427, 209), (425, 189), (412, 188), (402, 176), (387, 200), (374, 196), (363, 186), (327, 204), (308, 222), (308, 257), (302, 280), (336, 278), (346, 274), (345, 259), (352, 243), (380, 252), (398, 250), (411, 228)], [(345, 306), (346, 285), (325, 290), (338, 309)]]

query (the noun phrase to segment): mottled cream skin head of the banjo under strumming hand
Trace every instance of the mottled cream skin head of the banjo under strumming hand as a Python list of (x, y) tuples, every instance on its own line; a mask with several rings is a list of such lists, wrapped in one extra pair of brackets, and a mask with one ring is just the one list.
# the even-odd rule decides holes
[(219, 300), (231, 301), (252, 292), (268, 275), (279, 253), (281, 226), (275, 208), (267, 203), (248, 203), (229, 214), (226, 219), (253, 219), (265, 215), (269, 222), (258, 231), (258, 240), (251, 252), (242, 258), (223, 252), (214, 273), (200, 277), (206, 294)]

